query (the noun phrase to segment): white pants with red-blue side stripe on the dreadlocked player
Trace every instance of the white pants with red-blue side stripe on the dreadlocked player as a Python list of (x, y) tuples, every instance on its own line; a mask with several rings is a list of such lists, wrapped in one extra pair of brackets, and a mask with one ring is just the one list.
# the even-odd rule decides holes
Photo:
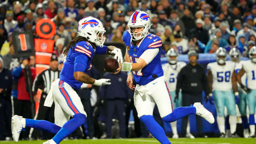
[(59, 78), (52, 83), (52, 98), (55, 103), (55, 124), (62, 127), (70, 116), (77, 113), (86, 115), (80, 97), (73, 88)]

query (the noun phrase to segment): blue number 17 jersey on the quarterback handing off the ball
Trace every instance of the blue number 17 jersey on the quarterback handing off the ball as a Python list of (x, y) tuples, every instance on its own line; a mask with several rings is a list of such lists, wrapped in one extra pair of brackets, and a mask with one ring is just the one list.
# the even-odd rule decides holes
[(127, 30), (123, 33), (123, 42), (126, 44), (131, 63), (136, 63), (145, 50), (159, 48), (158, 54), (156, 54), (156, 57), (147, 66), (140, 71), (133, 71), (133, 78), (138, 85), (146, 85), (155, 78), (164, 76), (160, 60), (162, 40), (159, 36), (148, 33), (138, 45), (134, 46), (131, 35)]

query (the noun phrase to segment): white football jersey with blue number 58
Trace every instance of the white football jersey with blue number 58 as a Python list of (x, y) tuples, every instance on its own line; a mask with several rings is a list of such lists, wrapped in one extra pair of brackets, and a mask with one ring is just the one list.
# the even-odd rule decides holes
[(213, 90), (230, 91), (232, 89), (232, 73), (235, 64), (232, 61), (226, 61), (223, 66), (217, 62), (209, 63), (207, 70), (211, 70), (213, 76)]

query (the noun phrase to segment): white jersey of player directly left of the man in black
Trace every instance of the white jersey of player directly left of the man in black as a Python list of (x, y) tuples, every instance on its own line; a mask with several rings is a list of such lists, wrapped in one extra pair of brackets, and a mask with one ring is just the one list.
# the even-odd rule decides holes
[(164, 78), (170, 92), (176, 90), (177, 76), (181, 68), (183, 68), (184, 66), (186, 66), (186, 63), (182, 61), (177, 62), (177, 64), (175, 65), (171, 65), (169, 63), (162, 65), (162, 68), (164, 70)]

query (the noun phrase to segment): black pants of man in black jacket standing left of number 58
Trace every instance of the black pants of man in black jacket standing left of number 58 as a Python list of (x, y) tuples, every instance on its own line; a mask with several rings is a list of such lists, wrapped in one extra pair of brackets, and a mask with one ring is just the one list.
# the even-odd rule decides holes
[[(203, 102), (203, 98), (201, 94), (188, 94), (182, 93), (182, 104), (183, 106), (190, 106), (190, 104), (194, 104), (195, 102)], [(196, 116), (197, 119), (197, 133), (199, 136), (203, 133), (203, 119), (200, 116)], [(185, 137), (187, 132), (187, 120), (188, 116), (182, 118), (182, 125), (181, 125), (181, 133), (182, 136)]]

